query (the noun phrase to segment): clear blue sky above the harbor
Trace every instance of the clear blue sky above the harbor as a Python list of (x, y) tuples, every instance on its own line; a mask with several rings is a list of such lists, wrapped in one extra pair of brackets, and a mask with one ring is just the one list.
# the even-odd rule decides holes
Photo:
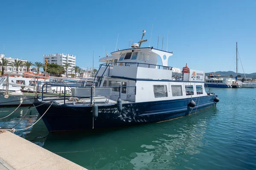
[[(76, 55), (76, 65), (95, 66), (116, 47), (138, 42), (145, 29), (151, 46), (164, 36), (173, 51), (169, 65), (212, 71), (235, 71), (236, 41), (246, 73), (256, 72), (255, 0), (54, 0), (0, 1), (0, 52), (6, 57), (43, 62), (44, 54)], [(148, 46), (148, 42), (143, 44)], [(240, 61), (239, 61), (240, 62)], [(242, 72), (239, 63), (239, 72)]]

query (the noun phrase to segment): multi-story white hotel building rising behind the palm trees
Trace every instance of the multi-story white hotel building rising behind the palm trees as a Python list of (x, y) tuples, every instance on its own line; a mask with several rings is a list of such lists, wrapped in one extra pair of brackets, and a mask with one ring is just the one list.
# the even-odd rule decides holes
[(63, 53), (44, 55), (44, 64), (46, 62), (46, 59), (49, 64), (54, 63), (54, 64), (64, 66), (65, 63), (70, 63), (70, 67), (68, 67), (68, 74), (72, 73), (71, 70), (73, 66), (76, 66), (76, 55), (69, 55), (69, 54), (63, 54)]

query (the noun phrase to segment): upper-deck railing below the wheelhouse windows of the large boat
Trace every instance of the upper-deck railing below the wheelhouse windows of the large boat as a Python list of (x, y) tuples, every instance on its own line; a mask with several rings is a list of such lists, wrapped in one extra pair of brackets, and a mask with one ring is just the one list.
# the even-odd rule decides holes
[[(113, 62), (113, 63), (104, 63), (104, 64), (100, 64), (100, 65), (99, 65), (99, 70), (101, 69), (102, 66), (106, 66), (106, 68), (105, 68), (104, 72), (102, 73), (101, 78), (100, 78), (100, 80), (99, 80), (99, 86), (101, 85), (102, 78), (103, 78), (103, 76), (104, 76), (106, 70), (108, 69), (108, 76), (109, 76), (110, 67), (116, 66), (117, 63), (122, 63), (122, 64), (126, 64), (126, 63), (135, 63), (135, 64), (137, 64), (137, 67), (139, 67), (139, 65), (142, 64), (142, 65), (148, 66), (148, 68), (150, 68), (150, 66), (156, 66), (157, 69), (160, 69), (160, 68), (163, 68), (163, 69), (164, 69), (164, 68), (166, 68), (167, 70), (172, 70), (172, 67), (170, 67), (170, 66), (163, 66), (163, 65), (157, 65), (157, 64), (148, 64), (148, 63), (121, 62), (121, 61), (119, 61), (119, 62)], [(99, 70), (98, 70), (98, 72), (99, 72)], [(94, 80), (96, 79), (96, 77), (97, 77), (97, 75), (98, 75), (98, 72), (96, 73), (96, 75), (95, 75), (95, 77), (94, 77)]]

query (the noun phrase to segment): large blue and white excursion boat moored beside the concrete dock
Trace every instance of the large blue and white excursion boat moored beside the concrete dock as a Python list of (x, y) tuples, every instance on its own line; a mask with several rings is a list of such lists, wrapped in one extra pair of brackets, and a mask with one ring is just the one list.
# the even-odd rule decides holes
[[(143, 37), (145, 30), (143, 30)], [(206, 92), (204, 71), (168, 66), (172, 52), (153, 47), (112, 52), (91, 87), (66, 88), (70, 96), (35, 99), (39, 114), (52, 131), (90, 130), (166, 121), (214, 106), (217, 95)], [(163, 65), (157, 65), (160, 57)]]

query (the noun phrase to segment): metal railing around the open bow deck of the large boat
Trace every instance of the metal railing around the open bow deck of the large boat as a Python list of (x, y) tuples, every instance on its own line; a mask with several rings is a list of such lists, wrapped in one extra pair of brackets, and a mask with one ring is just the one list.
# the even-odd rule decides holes
[[(53, 95), (53, 96), (58, 96), (58, 97), (62, 97), (64, 98), (64, 104), (65, 104), (65, 101), (66, 101), (66, 98), (70, 98), (70, 97), (77, 97), (77, 98), (90, 98), (90, 104), (93, 104), (93, 97), (95, 97), (93, 95), (93, 93), (97, 90), (97, 89), (104, 89), (104, 88), (116, 88), (116, 91), (118, 92), (118, 94), (109, 94), (109, 95), (102, 95), (104, 97), (111, 97), (111, 96), (118, 96), (119, 98), (121, 98), (121, 96), (127, 96), (127, 95), (136, 95), (136, 86), (90, 86), (90, 87), (78, 87), (78, 86), (65, 86), (65, 85), (55, 85), (55, 84), (51, 84), (51, 86), (62, 86), (64, 87), (64, 93), (63, 95), (54, 95), (54, 94), (51, 94), (51, 93), (47, 93), (47, 90), (44, 90), (44, 87), (46, 86), (46, 89), (47, 89), (47, 85), (49, 84), (43, 84), (42, 86), (42, 91), (41, 91), (41, 99), (42, 101), (44, 100), (44, 95), (47, 94), (47, 95)], [(70, 94), (70, 93), (67, 93), (67, 90), (70, 91), (70, 89), (67, 89), (66, 87), (68, 88), (77, 88), (77, 89), (90, 89), (89, 92), (90, 92), (90, 95), (85, 95), (85, 96), (76, 96), (76, 95), (66, 95), (66, 94)], [(128, 88), (133, 88), (134, 90), (131, 90), (134, 92), (134, 94), (128, 94)], [(122, 90), (125, 89), (125, 94), (122, 93)], [(96, 96), (97, 97), (97, 96)]]

